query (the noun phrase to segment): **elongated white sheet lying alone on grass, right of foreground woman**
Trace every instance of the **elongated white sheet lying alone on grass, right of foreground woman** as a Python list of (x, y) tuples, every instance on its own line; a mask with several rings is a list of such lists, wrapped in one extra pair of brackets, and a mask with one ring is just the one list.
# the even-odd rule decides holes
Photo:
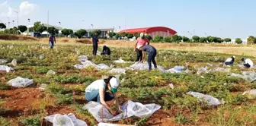
[(219, 99), (216, 99), (213, 96), (205, 95), (203, 93), (196, 93), (196, 92), (190, 91), (187, 94), (196, 97), (201, 102), (206, 101), (208, 106), (219, 106), (225, 103), (225, 102), (219, 101)]

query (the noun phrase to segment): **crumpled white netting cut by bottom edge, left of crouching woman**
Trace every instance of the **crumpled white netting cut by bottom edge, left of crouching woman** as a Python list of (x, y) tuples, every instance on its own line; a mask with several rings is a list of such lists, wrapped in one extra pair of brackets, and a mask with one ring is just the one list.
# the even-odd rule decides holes
[(69, 115), (50, 115), (44, 119), (53, 123), (53, 126), (87, 126), (85, 121), (77, 119), (72, 113)]

